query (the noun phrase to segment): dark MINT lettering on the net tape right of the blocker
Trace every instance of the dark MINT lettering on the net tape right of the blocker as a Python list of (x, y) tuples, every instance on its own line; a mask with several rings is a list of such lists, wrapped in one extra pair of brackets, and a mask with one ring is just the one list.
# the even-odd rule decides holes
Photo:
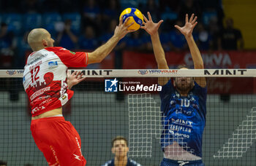
[(204, 75), (244, 75), (246, 69), (217, 69), (210, 73), (208, 70), (204, 70)]

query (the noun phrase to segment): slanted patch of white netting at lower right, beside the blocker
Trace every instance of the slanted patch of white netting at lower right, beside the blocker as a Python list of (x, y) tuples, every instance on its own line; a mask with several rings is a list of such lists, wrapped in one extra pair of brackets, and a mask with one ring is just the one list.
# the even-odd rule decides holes
[(249, 111), (246, 119), (238, 125), (228, 141), (214, 154), (214, 158), (243, 157), (256, 141), (256, 107)]

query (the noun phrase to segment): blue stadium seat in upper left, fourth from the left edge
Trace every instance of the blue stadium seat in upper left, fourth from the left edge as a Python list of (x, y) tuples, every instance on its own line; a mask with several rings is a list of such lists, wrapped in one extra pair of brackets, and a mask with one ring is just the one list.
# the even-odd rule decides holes
[(81, 15), (78, 12), (64, 13), (62, 18), (63, 20), (72, 20), (72, 31), (80, 33)]

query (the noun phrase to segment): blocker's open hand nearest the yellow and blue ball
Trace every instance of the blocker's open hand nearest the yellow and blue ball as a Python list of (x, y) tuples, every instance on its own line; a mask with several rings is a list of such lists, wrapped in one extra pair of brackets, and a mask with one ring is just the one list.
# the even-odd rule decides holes
[(154, 23), (150, 15), (150, 12), (147, 12), (147, 14), (148, 14), (148, 19), (145, 17), (145, 15), (143, 15), (143, 18), (144, 18), (143, 26), (141, 26), (140, 28), (144, 29), (150, 35), (153, 35), (157, 33), (158, 28), (162, 24), (163, 20), (159, 20), (158, 23)]

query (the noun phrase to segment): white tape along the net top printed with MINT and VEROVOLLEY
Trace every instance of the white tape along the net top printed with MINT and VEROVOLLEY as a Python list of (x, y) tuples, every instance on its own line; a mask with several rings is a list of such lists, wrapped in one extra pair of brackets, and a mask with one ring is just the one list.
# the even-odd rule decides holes
[[(218, 68), (218, 69), (74, 69), (69, 73), (82, 71), (86, 77), (256, 77), (256, 69)], [(22, 78), (23, 70), (0, 70), (0, 77)]]

